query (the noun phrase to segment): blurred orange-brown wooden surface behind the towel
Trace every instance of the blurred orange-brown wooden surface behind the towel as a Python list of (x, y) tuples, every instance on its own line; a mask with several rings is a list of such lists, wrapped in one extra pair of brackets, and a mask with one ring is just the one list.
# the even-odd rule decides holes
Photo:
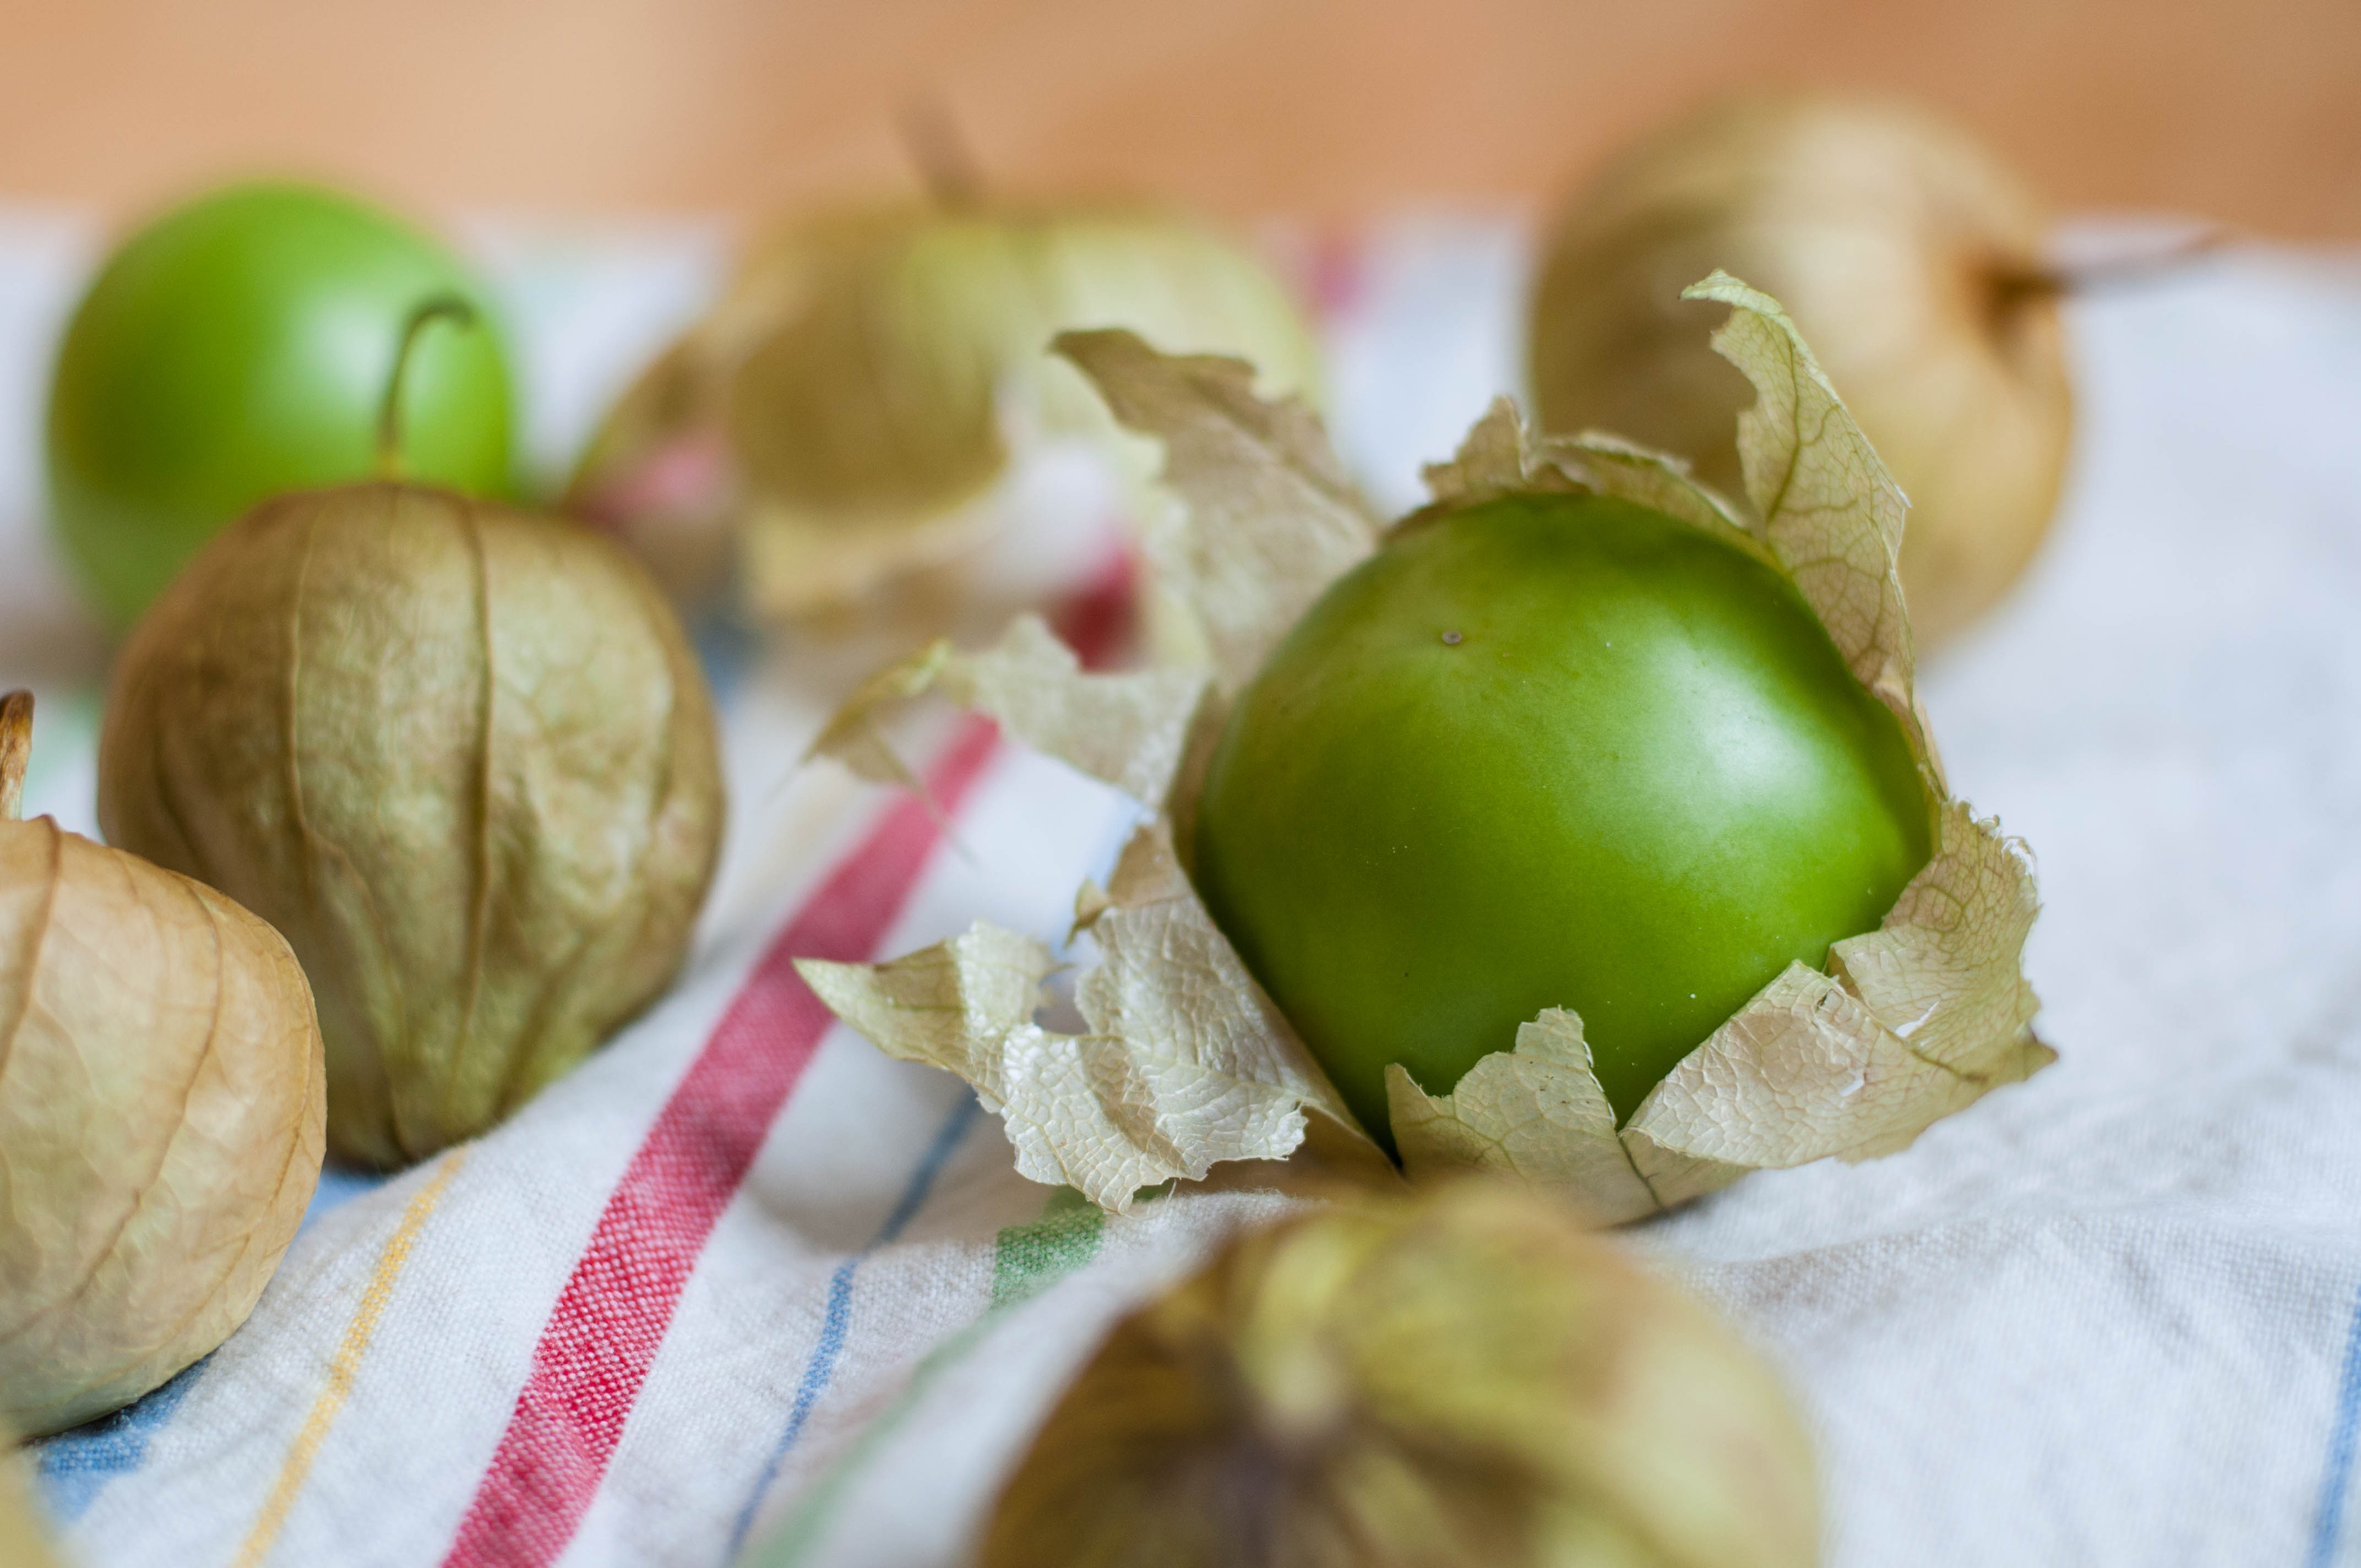
[(0, 198), (760, 213), (907, 179), (935, 94), (1013, 189), (1353, 220), (1546, 198), (1735, 83), (1927, 97), (2075, 208), (2361, 239), (2361, 0), (0, 0)]

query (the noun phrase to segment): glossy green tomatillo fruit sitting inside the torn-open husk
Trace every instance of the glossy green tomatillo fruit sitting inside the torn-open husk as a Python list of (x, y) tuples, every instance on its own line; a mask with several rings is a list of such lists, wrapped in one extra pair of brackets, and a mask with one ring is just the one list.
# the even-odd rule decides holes
[(1901, 725), (1794, 586), (1594, 496), (1450, 512), (1339, 579), (1197, 810), (1206, 907), (1379, 1138), (1386, 1063), (1450, 1093), (1551, 1006), (1629, 1119), (1931, 852)]

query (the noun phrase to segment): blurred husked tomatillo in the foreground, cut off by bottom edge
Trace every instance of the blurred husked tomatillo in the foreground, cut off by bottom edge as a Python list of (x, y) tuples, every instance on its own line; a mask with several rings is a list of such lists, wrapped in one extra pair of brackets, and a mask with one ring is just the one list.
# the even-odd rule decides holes
[(1461, 1183), (1230, 1242), (1055, 1405), (985, 1568), (1801, 1568), (1771, 1372), (1554, 1202)]

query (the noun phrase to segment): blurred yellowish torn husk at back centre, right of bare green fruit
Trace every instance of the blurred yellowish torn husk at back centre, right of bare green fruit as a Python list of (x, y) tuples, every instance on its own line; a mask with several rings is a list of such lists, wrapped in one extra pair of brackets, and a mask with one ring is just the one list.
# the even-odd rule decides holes
[(1152, 456), (1072, 366), (1070, 326), (1263, 366), (1308, 392), (1315, 349), (1251, 255), (1155, 208), (871, 208), (756, 246), (715, 312), (623, 397), (569, 505), (678, 590), (734, 557), (763, 619), (822, 614), (1011, 524), (1015, 468), (1086, 444), (1138, 496)]

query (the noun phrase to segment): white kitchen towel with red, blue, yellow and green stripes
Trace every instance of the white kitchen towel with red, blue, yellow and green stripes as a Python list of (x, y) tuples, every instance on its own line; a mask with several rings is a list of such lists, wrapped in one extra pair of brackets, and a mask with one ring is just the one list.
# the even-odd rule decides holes
[[(1520, 255), (1443, 220), (1317, 253), (1386, 501), (1513, 385)], [(2056, 536), (1924, 680), (1955, 784), (2040, 855), (2061, 1063), (1627, 1240), (1787, 1370), (1834, 1563), (2361, 1561), (2361, 269), (2234, 255), (2078, 305), (2073, 347)], [(935, 808), (796, 772), (857, 659), (713, 661), (737, 819), (682, 985), (501, 1131), (331, 1181), (246, 1329), (42, 1443), (78, 1561), (959, 1563), (1103, 1327), (1291, 1202), (1100, 1216), (833, 1027), (789, 956), (1058, 942), (1131, 808), (951, 718)]]

